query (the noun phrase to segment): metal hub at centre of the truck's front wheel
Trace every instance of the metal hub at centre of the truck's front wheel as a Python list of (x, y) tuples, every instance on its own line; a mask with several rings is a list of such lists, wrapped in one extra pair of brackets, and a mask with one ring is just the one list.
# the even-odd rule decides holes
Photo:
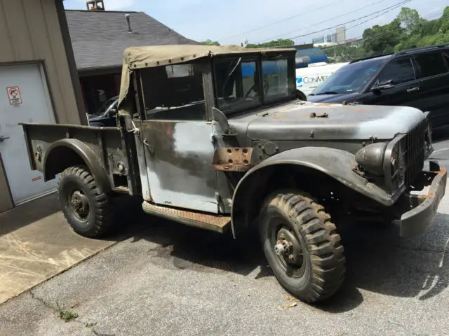
[(302, 265), (302, 248), (294, 233), (281, 228), (276, 237), (274, 252), (288, 264)]

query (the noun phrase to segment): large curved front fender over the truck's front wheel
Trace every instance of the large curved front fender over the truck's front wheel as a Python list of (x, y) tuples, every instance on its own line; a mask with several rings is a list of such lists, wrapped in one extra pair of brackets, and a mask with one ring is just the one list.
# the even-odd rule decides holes
[(262, 169), (274, 165), (297, 165), (314, 169), (332, 177), (333, 179), (344, 184), (344, 186), (347, 186), (352, 190), (379, 202), (380, 204), (385, 206), (391, 206), (394, 204), (394, 199), (385, 190), (373, 183), (368, 182), (368, 180), (354, 172), (353, 167), (355, 167), (356, 161), (354, 159), (354, 155), (351, 153), (340, 149), (327, 147), (295, 148), (267, 158), (259, 165), (251, 168), (239, 181), (232, 197), (231, 218), (234, 237), (235, 209), (239, 205), (239, 196), (242, 193), (245, 193), (247, 189), (242, 186), (245, 186), (245, 182), (248, 181), (250, 176), (253, 176), (255, 172), (260, 172)]

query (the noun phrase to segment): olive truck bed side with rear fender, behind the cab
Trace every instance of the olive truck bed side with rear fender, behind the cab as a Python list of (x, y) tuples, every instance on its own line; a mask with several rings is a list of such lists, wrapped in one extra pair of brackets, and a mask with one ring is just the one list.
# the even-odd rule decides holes
[[(127, 133), (124, 127), (20, 125), (25, 133), (29, 165), (31, 169), (42, 172), (45, 181), (55, 179), (67, 167), (91, 165), (93, 167), (89, 168), (94, 175), (95, 172), (104, 175), (103, 180), (105, 184), (109, 183), (110, 190), (140, 195), (135, 139), (133, 133)], [(95, 179), (101, 178), (95, 176)]]

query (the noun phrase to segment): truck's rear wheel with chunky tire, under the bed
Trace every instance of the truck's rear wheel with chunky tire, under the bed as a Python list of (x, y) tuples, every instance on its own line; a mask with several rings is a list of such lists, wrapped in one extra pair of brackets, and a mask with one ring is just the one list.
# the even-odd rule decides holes
[(60, 174), (58, 193), (62, 213), (74, 232), (95, 238), (109, 231), (113, 220), (111, 200), (100, 192), (86, 167), (65, 169)]

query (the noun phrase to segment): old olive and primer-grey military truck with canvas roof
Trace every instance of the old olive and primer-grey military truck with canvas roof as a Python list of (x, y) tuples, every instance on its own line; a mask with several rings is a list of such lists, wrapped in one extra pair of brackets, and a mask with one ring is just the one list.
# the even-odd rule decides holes
[(445, 169), (424, 170), (429, 113), (304, 102), (288, 48), (128, 48), (116, 127), (22, 125), (31, 168), (58, 176), (79, 235), (107, 233), (116, 193), (236, 239), (256, 229), (279, 283), (304, 302), (342, 284), (340, 225), (379, 219), (419, 235), (445, 193)]

